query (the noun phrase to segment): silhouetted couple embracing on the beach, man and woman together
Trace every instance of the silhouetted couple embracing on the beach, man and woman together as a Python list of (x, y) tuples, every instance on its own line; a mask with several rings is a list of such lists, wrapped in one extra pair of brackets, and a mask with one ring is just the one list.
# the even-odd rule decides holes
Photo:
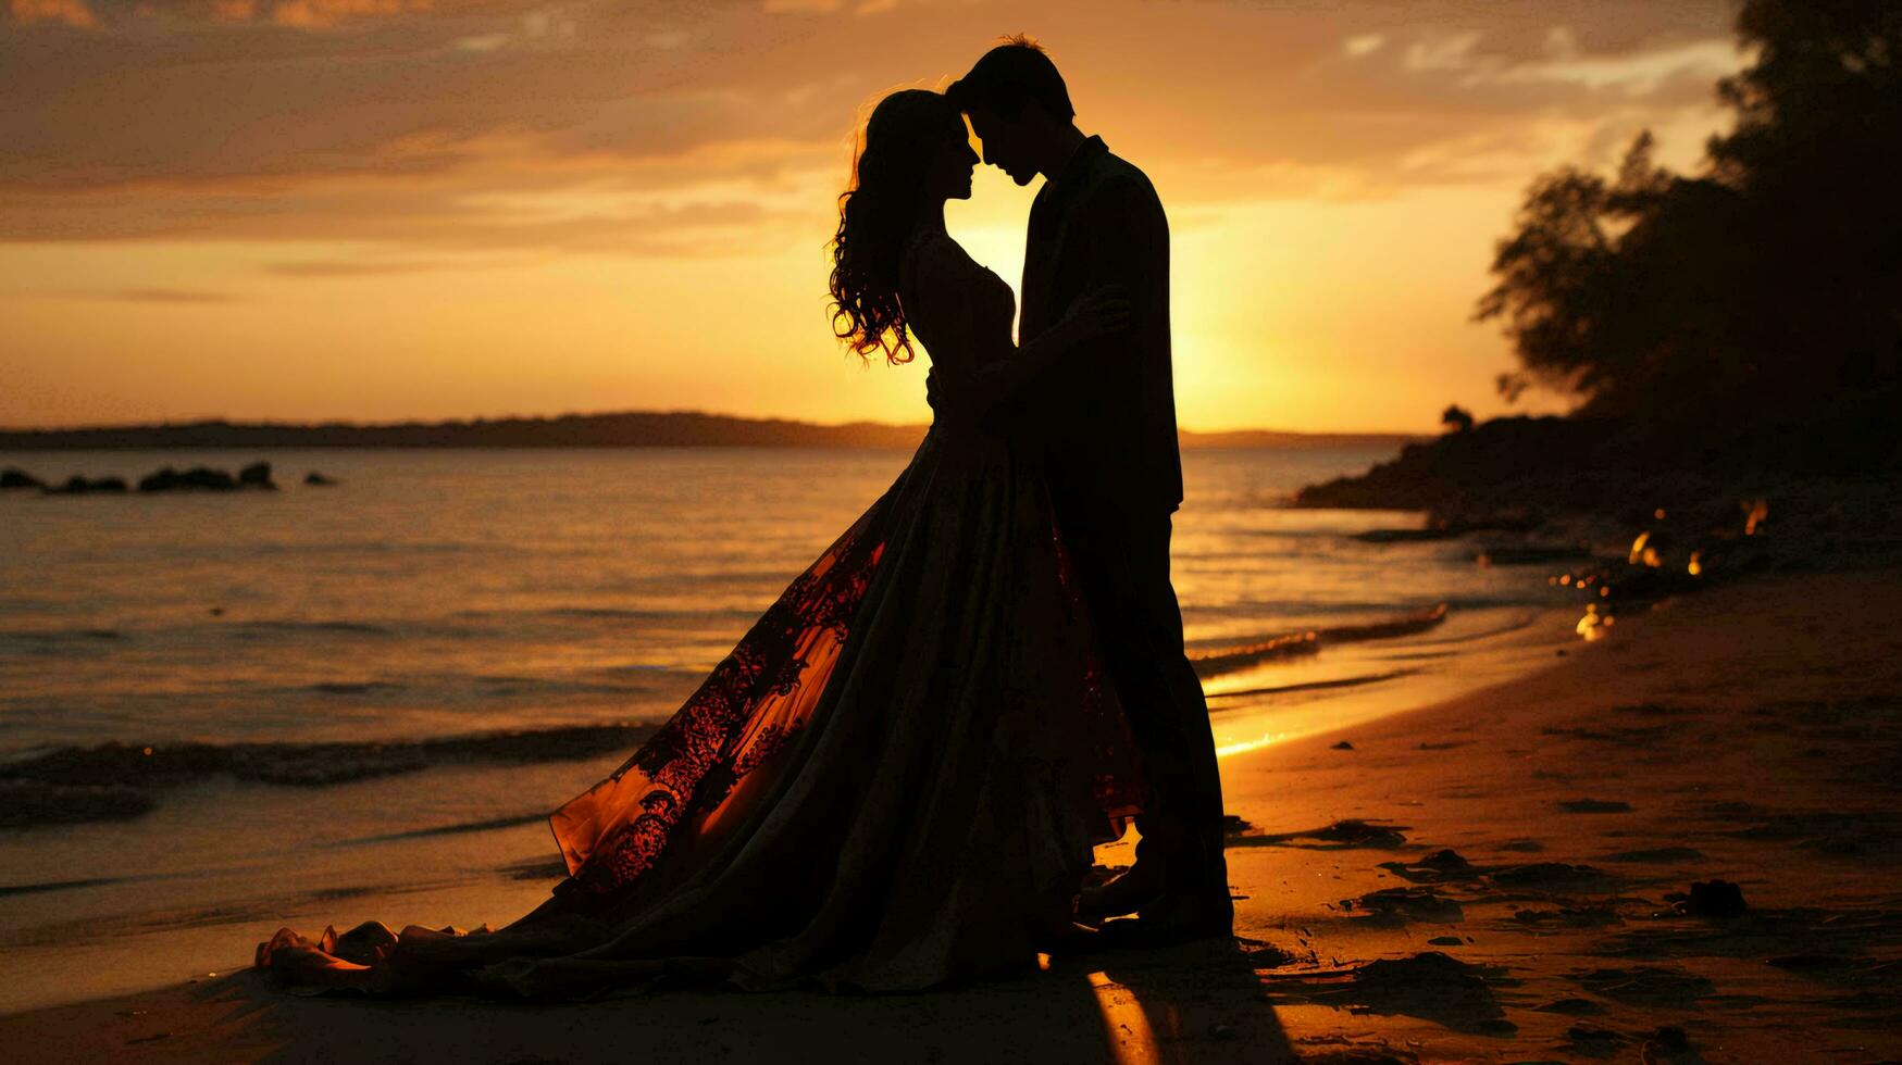
[[(1010, 285), (943, 226), (978, 156), (1031, 207)], [(835, 331), (932, 359), (911, 464), (620, 770), (552, 816), (569, 879), (489, 932), (281, 930), (306, 987), (573, 998), (658, 978), (913, 991), (1038, 951), (1231, 934), (1221, 785), (1170, 586), (1168, 223), (1029, 40), (865, 124)], [(1122, 877), (1092, 844), (1134, 818)], [(1128, 917), (1134, 915), (1134, 917)]]

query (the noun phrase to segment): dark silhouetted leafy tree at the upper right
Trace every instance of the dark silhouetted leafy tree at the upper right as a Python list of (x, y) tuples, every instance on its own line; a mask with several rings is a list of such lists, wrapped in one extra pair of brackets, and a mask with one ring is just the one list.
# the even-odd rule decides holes
[[(1527, 190), (1497, 245), (1497, 320), (1516, 399), (1735, 432), (1765, 424), (1885, 432), (1902, 401), (1902, 4), (1746, 0), (1737, 112), (1698, 175), (1653, 162), (1562, 167)], [(1847, 428), (1843, 432), (1849, 432)]]

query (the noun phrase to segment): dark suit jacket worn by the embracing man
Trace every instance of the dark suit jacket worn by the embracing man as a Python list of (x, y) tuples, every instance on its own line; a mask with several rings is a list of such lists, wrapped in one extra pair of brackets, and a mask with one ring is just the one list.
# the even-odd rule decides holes
[(1073, 352), (1018, 409), (1044, 453), (1059, 517), (1174, 512), (1183, 498), (1170, 367), (1170, 223), (1149, 177), (1090, 137), (1031, 205), (1019, 339), (1122, 285), (1132, 329)]

